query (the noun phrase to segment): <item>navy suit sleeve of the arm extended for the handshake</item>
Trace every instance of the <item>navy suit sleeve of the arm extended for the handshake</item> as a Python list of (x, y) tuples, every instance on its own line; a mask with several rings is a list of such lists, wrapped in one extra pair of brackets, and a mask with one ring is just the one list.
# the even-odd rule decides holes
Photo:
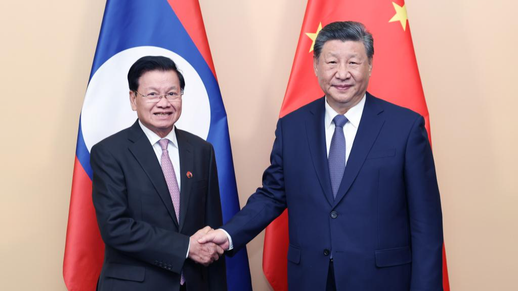
[(235, 254), (286, 209), (282, 148), (282, 119), (277, 122), (270, 166), (263, 173), (263, 186), (257, 188), (247, 204), (224, 225), (234, 244)]

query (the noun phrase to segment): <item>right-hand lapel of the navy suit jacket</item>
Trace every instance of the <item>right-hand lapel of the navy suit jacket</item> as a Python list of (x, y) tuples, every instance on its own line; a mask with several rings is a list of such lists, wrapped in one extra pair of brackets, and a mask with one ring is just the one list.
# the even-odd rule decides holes
[(376, 103), (376, 99), (367, 93), (362, 119), (359, 123), (356, 137), (354, 138), (353, 147), (349, 154), (346, 170), (343, 172), (342, 182), (338, 188), (333, 207), (338, 205), (340, 200), (349, 191), (356, 176), (358, 176), (358, 172), (362, 168), (365, 158), (372, 148), (372, 144), (376, 141), (385, 121), (383, 114), (381, 114), (382, 112), (383, 108)]

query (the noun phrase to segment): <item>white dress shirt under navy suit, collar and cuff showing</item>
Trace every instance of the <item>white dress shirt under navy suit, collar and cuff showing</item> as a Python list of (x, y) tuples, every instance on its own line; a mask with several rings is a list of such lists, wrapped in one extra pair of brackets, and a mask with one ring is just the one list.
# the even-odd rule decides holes
[[(363, 95), (362, 100), (358, 102), (355, 106), (351, 107), (346, 114), (343, 114), (348, 122), (343, 126), (343, 135), (346, 137), (346, 164), (349, 159), (349, 154), (351, 153), (351, 149), (353, 148), (354, 138), (356, 137), (356, 132), (358, 131), (359, 121), (362, 119), (363, 108), (365, 107), (365, 96)], [(329, 147), (331, 146), (331, 139), (333, 138), (333, 134), (335, 133), (335, 123), (333, 119), (338, 115), (336, 111), (327, 104), (327, 96), (325, 97), (325, 117), (324, 117), (324, 128), (325, 128), (325, 144), (327, 148), (327, 156), (329, 156)], [(223, 230), (228, 238), (229, 248), (228, 250), (234, 249), (234, 245), (232, 243), (232, 238)]]

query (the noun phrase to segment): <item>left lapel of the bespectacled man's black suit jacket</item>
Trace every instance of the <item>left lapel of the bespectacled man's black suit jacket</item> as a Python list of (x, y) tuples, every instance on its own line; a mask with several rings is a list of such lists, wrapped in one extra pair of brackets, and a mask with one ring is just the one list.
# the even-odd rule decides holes
[[(142, 128), (137, 122), (131, 127), (128, 139), (133, 143), (130, 144), (130, 152), (135, 156), (142, 169), (146, 172), (149, 180), (153, 183), (156, 192), (160, 195), (162, 202), (164, 202), (171, 219), (175, 222), (178, 227), (178, 221), (176, 219), (175, 209), (172, 206), (171, 196), (169, 194), (169, 188), (164, 178), (164, 172), (160, 167), (159, 161), (156, 159), (156, 154), (153, 151), (153, 147), (146, 137)], [(181, 197), (181, 196), (180, 196)]]

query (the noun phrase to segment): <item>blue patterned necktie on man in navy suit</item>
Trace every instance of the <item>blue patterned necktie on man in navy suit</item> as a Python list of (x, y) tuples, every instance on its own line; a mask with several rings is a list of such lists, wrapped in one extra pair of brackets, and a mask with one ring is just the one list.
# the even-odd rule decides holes
[(331, 139), (328, 161), (334, 198), (336, 198), (338, 188), (342, 182), (343, 171), (346, 169), (346, 137), (343, 135), (343, 126), (346, 125), (347, 121), (347, 118), (341, 114), (336, 115), (333, 119), (335, 133)]

